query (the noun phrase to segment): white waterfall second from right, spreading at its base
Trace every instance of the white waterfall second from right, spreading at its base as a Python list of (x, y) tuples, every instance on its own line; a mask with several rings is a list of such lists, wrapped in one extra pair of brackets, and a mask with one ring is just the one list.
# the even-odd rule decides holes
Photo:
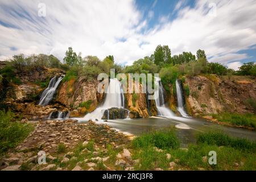
[(164, 89), (159, 77), (155, 77), (156, 90), (154, 93), (156, 108), (158, 109), (158, 115), (164, 117), (173, 117), (175, 114), (166, 107), (164, 103)]

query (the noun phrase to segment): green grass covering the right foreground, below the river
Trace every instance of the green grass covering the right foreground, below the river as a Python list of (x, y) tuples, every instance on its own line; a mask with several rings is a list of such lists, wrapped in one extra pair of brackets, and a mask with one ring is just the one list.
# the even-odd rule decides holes
[[(174, 136), (172, 130), (170, 134), (167, 131), (158, 131), (135, 138), (131, 145), (133, 159), (140, 161), (135, 166), (135, 170), (154, 170), (155, 168), (168, 170), (170, 168), (169, 163), (174, 161), (176, 163), (175, 170), (199, 170), (199, 168), (205, 170), (256, 169), (255, 143), (249, 140), (232, 138), (218, 131), (201, 133), (197, 135), (197, 144), (190, 144), (187, 150), (183, 150), (179, 147), (173, 147), (173, 145), (169, 146), (167, 143), (170, 141), (173, 143), (172, 140), (168, 137), (155, 137), (155, 133), (158, 136), (171, 135), (171, 138)], [(163, 152), (154, 149), (154, 146), (159, 146), (158, 143), (161, 143), (160, 146), (164, 148)], [(203, 162), (203, 156), (207, 156), (208, 161), (210, 151), (216, 151), (216, 165)], [(166, 154), (171, 154), (171, 159), (167, 159)], [(237, 168), (234, 163), (238, 163), (240, 166)]]

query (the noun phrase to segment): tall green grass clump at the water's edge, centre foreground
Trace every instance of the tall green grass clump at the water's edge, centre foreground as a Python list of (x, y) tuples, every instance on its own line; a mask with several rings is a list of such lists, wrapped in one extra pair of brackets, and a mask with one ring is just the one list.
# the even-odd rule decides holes
[(145, 133), (135, 138), (132, 144), (134, 148), (158, 147), (161, 149), (176, 149), (180, 146), (174, 130)]

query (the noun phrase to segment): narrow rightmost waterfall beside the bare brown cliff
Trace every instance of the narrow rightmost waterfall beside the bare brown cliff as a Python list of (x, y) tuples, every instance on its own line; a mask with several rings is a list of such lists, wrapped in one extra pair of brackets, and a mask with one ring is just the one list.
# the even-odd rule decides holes
[(184, 102), (184, 97), (183, 97), (183, 90), (181, 87), (181, 82), (176, 80), (176, 93), (177, 93), (177, 110), (180, 112), (180, 114), (185, 117), (189, 118), (189, 115), (185, 111), (185, 102)]

